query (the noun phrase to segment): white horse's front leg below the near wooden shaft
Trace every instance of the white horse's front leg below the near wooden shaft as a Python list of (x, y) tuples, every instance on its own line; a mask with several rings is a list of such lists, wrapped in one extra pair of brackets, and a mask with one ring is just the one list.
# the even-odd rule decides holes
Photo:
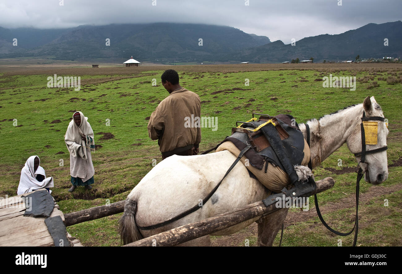
[(256, 221), (258, 224), (258, 246), (272, 246), (289, 209), (279, 209)]

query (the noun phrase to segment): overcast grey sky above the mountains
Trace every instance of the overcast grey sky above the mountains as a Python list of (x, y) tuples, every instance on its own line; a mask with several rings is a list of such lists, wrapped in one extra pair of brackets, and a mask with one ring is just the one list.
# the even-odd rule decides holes
[(292, 38), (402, 20), (401, 11), (402, 0), (1, 0), (0, 27), (202, 23), (289, 44)]

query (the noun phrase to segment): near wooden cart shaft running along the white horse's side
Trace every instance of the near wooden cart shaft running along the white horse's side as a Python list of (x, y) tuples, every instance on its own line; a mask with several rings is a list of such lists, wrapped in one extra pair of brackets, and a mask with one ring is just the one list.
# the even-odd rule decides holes
[[(331, 177), (317, 181), (317, 188), (314, 193), (319, 193), (332, 188), (334, 183), (334, 179)], [(282, 193), (277, 195), (282, 196)], [(153, 243), (157, 246), (178, 245), (179, 243), (185, 243), (186, 241), (209, 235), (213, 232), (220, 231), (249, 219), (273, 213), (279, 209), (280, 208), (277, 208), (275, 203), (265, 207), (262, 201), (258, 201), (253, 204), (248, 204), (241, 209), (235, 209), (196, 223), (176, 227), (124, 246), (152, 246)]]

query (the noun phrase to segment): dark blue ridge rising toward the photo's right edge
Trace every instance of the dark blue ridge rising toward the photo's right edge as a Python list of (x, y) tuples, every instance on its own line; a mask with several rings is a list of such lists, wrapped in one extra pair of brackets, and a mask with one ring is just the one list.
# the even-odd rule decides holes
[[(296, 41), (295, 46), (275, 41), (243, 51), (245, 60), (256, 63), (283, 62), (299, 58), (318, 60), (354, 60), (361, 58), (382, 58), (402, 56), (402, 22), (367, 24), (359, 29), (337, 35), (318, 35)], [(384, 39), (388, 39), (388, 46)]]

